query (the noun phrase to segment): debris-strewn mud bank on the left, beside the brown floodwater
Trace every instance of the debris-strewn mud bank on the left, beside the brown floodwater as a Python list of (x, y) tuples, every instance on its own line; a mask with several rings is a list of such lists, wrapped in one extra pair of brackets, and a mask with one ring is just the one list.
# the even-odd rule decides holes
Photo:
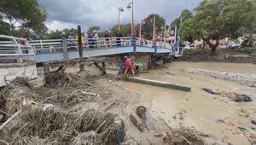
[[(0, 144), (204, 144), (201, 132), (171, 130), (153, 117), (148, 96), (126, 90), (122, 77), (102, 75), (91, 64), (83, 73), (78, 67), (57, 69), (45, 78), (39, 67), (37, 79), (17, 78), (1, 89)], [(144, 131), (130, 118), (139, 106), (148, 109)]]

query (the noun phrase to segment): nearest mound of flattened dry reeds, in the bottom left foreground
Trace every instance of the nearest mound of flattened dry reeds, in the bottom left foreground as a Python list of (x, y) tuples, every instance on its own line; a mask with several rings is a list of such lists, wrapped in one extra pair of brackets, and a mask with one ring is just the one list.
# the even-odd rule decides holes
[[(21, 109), (17, 119), (4, 126), (1, 138), (10, 144), (25, 144), (36, 138), (39, 139), (37, 142), (45, 144), (74, 142), (79, 145), (81, 140), (90, 144), (115, 144), (118, 131), (113, 121), (115, 117), (115, 114), (102, 114), (94, 109), (80, 114), (54, 106), (31, 104)], [(121, 129), (124, 132), (124, 126)], [(91, 139), (93, 136), (95, 140)]]

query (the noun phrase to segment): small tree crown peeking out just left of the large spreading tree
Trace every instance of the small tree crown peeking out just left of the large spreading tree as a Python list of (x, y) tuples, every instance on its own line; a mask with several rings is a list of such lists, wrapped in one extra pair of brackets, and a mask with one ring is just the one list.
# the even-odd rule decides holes
[(191, 18), (193, 16), (192, 12), (189, 9), (184, 9), (179, 17), (177, 17), (175, 20), (172, 21), (171, 27), (177, 26), (180, 27), (180, 24), (183, 23), (183, 21)]

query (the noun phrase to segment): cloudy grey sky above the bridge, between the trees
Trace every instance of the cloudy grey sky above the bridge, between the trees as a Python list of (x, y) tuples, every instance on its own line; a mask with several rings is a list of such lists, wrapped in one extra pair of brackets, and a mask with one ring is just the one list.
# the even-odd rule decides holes
[[(120, 23), (131, 21), (131, 9), (126, 9), (131, 0), (39, 0), (47, 11), (46, 26), (49, 30), (76, 28), (78, 24), (85, 31), (90, 26), (102, 29), (116, 25), (118, 7), (125, 12)], [(148, 14), (157, 13), (169, 24), (183, 9), (194, 9), (201, 0), (134, 0), (135, 21), (143, 20)]]

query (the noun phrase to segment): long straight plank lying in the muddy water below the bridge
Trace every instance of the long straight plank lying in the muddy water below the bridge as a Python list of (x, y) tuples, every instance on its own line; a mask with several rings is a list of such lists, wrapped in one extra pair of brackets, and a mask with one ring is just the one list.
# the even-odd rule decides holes
[(174, 89), (174, 90), (183, 90), (183, 91), (191, 91), (190, 87), (179, 85), (179, 84), (171, 84), (167, 82), (161, 82), (151, 79), (145, 79), (145, 78), (127, 78), (128, 81), (139, 83), (139, 84), (148, 84), (148, 85), (154, 85), (159, 87), (164, 87), (168, 89)]

